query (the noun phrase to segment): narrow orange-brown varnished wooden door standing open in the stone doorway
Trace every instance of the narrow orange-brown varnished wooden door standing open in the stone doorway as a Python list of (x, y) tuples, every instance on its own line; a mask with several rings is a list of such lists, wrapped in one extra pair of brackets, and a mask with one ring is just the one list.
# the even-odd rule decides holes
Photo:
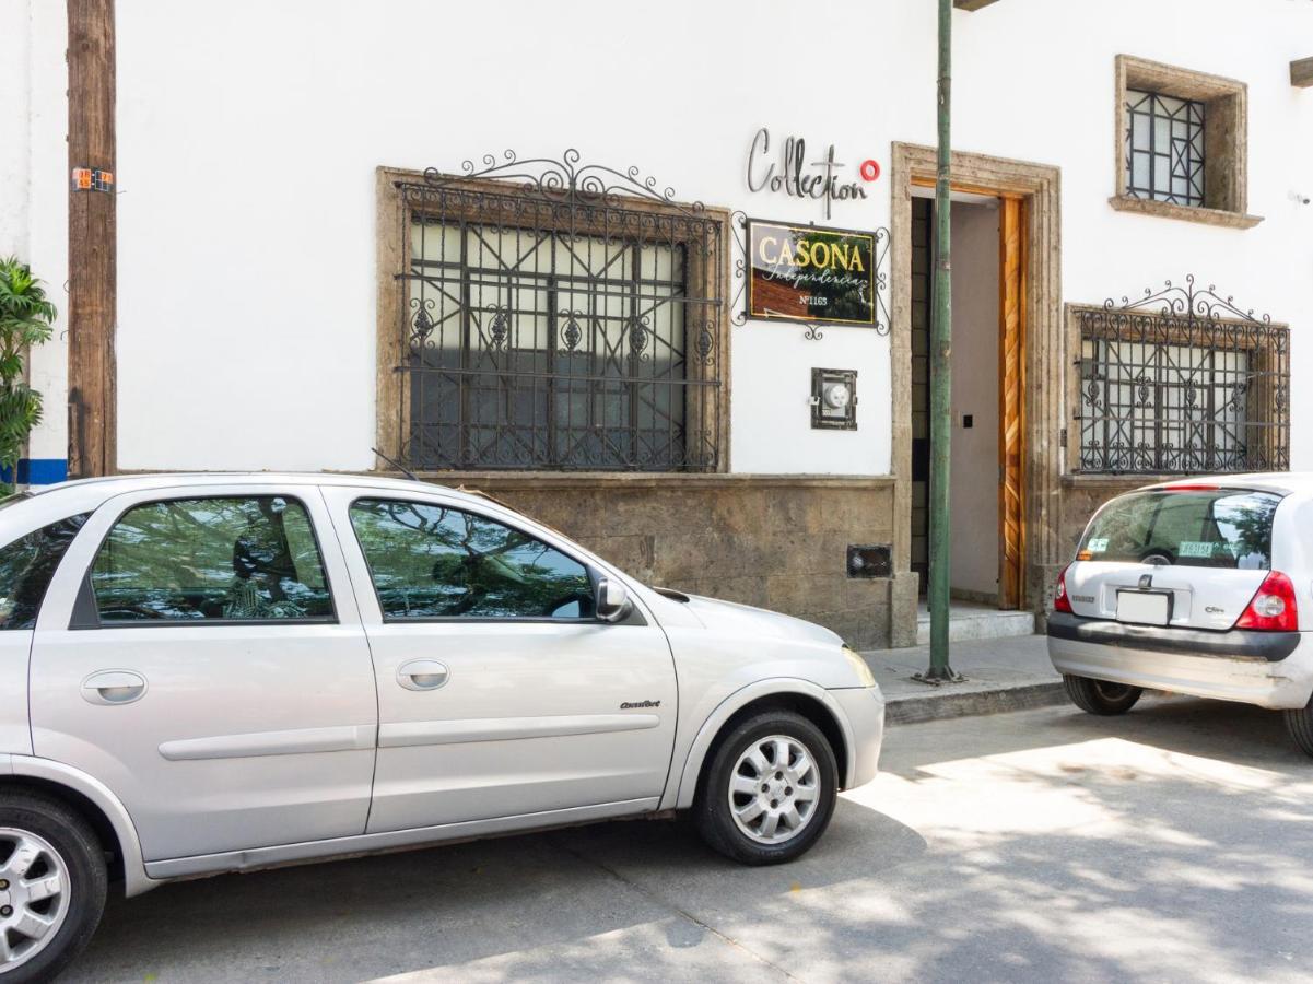
[(999, 208), (999, 607), (1025, 603), (1025, 202)]

